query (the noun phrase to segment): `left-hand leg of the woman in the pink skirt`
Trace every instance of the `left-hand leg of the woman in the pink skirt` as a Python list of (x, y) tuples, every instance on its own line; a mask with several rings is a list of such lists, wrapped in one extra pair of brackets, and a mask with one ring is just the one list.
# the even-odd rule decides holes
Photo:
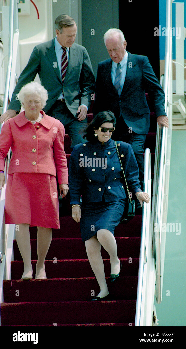
[(17, 245), (24, 263), (23, 279), (32, 279), (31, 246), (29, 224), (19, 224), (19, 230), (15, 232)]

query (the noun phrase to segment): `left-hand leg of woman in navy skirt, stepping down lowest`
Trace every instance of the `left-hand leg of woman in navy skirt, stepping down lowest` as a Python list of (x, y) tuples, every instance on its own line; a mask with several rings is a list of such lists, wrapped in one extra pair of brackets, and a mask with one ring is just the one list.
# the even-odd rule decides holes
[(103, 266), (103, 260), (101, 257), (101, 245), (96, 238), (96, 235), (85, 241), (85, 247), (87, 251), (88, 260), (98, 281), (100, 292), (98, 297), (105, 297), (108, 295), (108, 288), (105, 280), (105, 272)]

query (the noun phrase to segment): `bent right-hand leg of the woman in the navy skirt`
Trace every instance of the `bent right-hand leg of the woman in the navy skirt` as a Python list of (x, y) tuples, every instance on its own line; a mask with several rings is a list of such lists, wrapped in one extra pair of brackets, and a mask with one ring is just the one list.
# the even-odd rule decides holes
[(117, 245), (114, 235), (106, 229), (97, 231), (97, 238), (110, 256), (110, 274), (117, 275), (120, 272), (120, 260), (117, 257)]

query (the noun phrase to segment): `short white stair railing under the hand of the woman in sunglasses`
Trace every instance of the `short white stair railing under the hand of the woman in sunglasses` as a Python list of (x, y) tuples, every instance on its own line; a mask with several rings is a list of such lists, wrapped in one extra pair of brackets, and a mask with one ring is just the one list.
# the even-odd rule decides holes
[[(144, 188), (151, 198), (151, 158), (150, 150), (145, 149)], [(151, 200), (143, 203), (142, 233), (139, 256), (139, 274), (136, 303), (135, 326), (152, 326), (153, 300), (155, 292), (156, 269), (152, 258)]]

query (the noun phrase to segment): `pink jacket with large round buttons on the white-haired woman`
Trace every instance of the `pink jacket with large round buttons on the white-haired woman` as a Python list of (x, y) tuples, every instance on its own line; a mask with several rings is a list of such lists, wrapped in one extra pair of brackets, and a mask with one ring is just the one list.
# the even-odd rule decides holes
[(59, 184), (68, 184), (67, 161), (64, 151), (63, 124), (41, 111), (43, 118), (35, 126), (24, 111), (5, 121), (0, 133), (0, 170), (9, 148), (12, 156), (8, 174), (15, 172), (47, 173), (56, 176)]

